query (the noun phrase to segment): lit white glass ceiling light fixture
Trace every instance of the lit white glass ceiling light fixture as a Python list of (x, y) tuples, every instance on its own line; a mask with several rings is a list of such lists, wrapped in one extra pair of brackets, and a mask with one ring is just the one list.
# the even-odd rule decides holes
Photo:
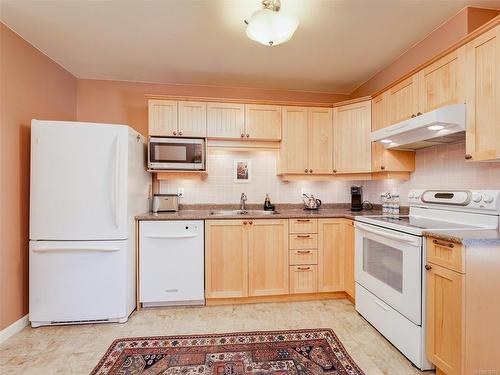
[(299, 26), (299, 20), (294, 15), (280, 12), (280, 8), (280, 0), (262, 0), (262, 9), (245, 20), (247, 36), (266, 46), (289, 41)]

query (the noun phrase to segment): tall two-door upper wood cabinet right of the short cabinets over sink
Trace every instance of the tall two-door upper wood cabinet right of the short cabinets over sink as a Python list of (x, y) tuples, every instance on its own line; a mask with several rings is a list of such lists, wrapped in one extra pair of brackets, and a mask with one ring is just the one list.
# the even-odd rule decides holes
[(332, 169), (332, 110), (283, 107), (280, 172), (328, 174)]

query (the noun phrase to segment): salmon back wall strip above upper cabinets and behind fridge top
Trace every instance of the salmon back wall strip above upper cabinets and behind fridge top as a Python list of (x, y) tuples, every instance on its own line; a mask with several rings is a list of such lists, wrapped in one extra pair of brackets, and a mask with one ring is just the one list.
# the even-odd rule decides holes
[(79, 79), (78, 121), (127, 124), (146, 135), (148, 131), (148, 103), (145, 94), (327, 104), (348, 99), (348, 95), (310, 91)]

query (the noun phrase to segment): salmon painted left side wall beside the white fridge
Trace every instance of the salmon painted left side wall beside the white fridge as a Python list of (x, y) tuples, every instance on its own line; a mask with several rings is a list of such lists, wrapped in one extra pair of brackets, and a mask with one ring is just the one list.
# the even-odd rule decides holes
[(28, 313), (33, 118), (74, 120), (76, 78), (0, 23), (0, 330)]

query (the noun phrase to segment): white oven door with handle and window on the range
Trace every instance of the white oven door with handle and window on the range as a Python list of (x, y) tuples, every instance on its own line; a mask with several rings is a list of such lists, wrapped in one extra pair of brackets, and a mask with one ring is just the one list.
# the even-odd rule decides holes
[(422, 238), (355, 223), (356, 282), (422, 324)]

